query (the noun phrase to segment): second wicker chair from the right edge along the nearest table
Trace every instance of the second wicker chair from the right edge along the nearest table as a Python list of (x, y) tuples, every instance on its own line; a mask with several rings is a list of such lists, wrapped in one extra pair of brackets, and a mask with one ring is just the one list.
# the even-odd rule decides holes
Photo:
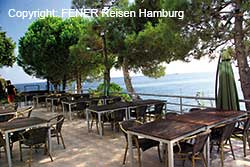
[(224, 125), (221, 125), (212, 129), (210, 151), (212, 152), (214, 144), (218, 146), (218, 151), (220, 150), (220, 153), (221, 153), (221, 166), (222, 167), (224, 167), (224, 144), (226, 141), (229, 141), (233, 159), (235, 160), (234, 151), (233, 151), (232, 143), (230, 140), (234, 127), (235, 127), (235, 122), (230, 122), (228, 124), (224, 124)]

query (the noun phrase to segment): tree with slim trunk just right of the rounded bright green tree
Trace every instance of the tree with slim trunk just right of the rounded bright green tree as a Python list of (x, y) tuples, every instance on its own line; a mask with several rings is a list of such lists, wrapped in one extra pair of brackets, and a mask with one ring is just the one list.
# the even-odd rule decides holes
[(95, 80), (102, 74), (102, 41), (88, 22), (77, 44), (70, 47), (70, 69), (76, 79), (77, 92), (82, 90), (83, 80)]

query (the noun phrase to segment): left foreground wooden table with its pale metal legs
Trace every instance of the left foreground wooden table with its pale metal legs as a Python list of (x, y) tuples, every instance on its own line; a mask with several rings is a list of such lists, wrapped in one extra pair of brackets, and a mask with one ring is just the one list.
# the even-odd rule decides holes
[[(12, 167), (11, 154), (10, 154), (10, 142), (9, 142), (9, 134), (13, 132), (17, 132), (20, 130), (25, 130), (29, 128), (37, 128), (37, 127), (50, 127), (50, 123), (46, 120), (36, 117), (31, 118), (23, 118), (23, 119), (15, 119), (10, 122), (0, 123), (0, 132), (5, 134), (5, 143), (6, 143), (6, 151), (7, 151), (7, 159), (9, 167)], [(51, 133), (50, 128), (48, 129), (48, 143), (49, 143), (49, 152), (51, 153)]]

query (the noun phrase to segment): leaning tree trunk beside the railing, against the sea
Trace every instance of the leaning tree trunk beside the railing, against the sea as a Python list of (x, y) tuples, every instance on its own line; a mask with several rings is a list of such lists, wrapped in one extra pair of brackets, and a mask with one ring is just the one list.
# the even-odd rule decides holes
[(140, 99), (140, 96), (135, 95), (135, 90), (132, 85), (132, 79), (129, 75), (128, 62), (126, 58), (123, 58), (122, 71), (123, 71), (123, 78), (124, 78), (124, 82), (127, 88), (127, 92), (129, 93), (130, 97), (133, 100)]

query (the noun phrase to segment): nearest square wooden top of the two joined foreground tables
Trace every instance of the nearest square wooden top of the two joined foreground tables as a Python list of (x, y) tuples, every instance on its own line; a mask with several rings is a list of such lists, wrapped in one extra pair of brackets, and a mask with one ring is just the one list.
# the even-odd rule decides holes
[(146, 123), (138, 127), (128, 128), (128, 130), (159, 139), (173, 140), (201, 128), (205, 128), (205, 126), (189, 122), (164, 119)]

